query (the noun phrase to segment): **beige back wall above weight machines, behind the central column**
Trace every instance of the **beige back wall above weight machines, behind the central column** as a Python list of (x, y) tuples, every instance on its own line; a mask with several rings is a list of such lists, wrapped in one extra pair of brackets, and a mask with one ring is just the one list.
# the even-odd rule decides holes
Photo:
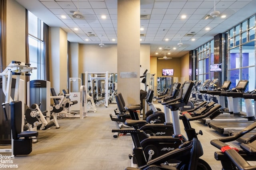
[[(73, 44), (73, 43), (72, 43)], [(72, 50), (76, 48), (72, 47)], [(72, 52), (72, 59), (76, 61), (76, 52)], [(117, 73), (117, 45), (106, 44), (99, 47), (98, 44), (79, 44), (79, 74), (87, 72)], [(140, 45), (140, 74), (148, 69), (150, 72), (150, 45)], [(75, 64), (73, 67), (77, 67)], [(72, 68), (73, 70), (73, 68)]]

